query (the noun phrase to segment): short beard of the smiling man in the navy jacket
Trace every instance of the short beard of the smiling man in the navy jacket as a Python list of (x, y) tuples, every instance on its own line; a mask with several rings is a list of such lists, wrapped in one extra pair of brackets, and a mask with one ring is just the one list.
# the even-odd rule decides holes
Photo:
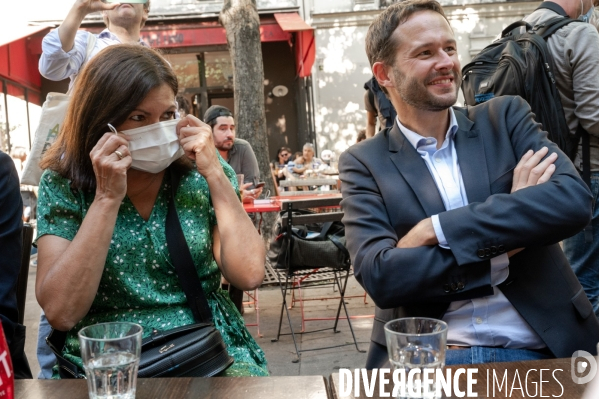
[[(437, 76), (428, 76), (425, 82), (430, 82)], [(401, 99), (408, 105), (422, 109), (425, 111), (443, 111), (455, 104), (457, 100), (458, 90), (462, 82), (461, 73), (455, 73), (451, 71), (447, 76), (454, 78), (456, 83), (455, 98), (453, 100), (443, 99), (436, 97), (426, 90), (426, 86), (422, 86), (415, 78), (407, 78), (402, 74), (398, 68), (393, 68), (393, 78), (395, 80), (395, 87), (393, 90), (401, 97)], [(426, 83), (424, 83), (426, 85)]]

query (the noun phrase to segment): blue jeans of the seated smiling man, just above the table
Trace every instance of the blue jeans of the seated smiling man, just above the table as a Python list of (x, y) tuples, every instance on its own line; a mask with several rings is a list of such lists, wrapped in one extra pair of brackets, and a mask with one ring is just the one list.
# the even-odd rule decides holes
[(522, 360), (552, 359), (548, 353), (528, 349), (488, 348), (472, 346), (464, 349), (448, 349), (445, 352), (445, 364), (479, 364), (492, 362), (515, 362)]

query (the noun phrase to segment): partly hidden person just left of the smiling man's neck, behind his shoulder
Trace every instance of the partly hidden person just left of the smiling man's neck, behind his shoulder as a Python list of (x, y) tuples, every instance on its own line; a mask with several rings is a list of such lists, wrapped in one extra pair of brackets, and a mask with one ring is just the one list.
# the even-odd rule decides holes
[(393, 104), (389, 101), (384, 87), (380, 87), (374, 76), (364, 83), (364, 107), (366, 108), (366, 138), (374, 136), (376, 121), (379, 131), (393, 126), (397, 116)]

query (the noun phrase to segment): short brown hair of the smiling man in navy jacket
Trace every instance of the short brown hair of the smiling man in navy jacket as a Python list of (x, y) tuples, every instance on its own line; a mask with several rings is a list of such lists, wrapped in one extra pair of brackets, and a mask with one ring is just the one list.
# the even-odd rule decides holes
[(398, 43), (393, 39), (395, 29), (418, 11), (434, 11), (447, 20), (441, 4), (435, 0), (407, 0), (393, 3), (383, 11), (368, 28), (366, 55), (370, 66), (375, 62), (393, 65)]

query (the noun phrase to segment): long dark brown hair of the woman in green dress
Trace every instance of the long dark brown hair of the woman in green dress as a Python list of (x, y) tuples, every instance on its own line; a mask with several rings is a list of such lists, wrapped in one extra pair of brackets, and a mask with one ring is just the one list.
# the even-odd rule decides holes
[(119, 126), (162, 85), (177, 93), (177, 76), (156, 50), (137, 44), (109, 46), (91, 59), (77, 77), (72, 100), (56, 142), (40, 166), (71, 181), (71, 187), (95, 190), (90, 152), (109, 129)]

